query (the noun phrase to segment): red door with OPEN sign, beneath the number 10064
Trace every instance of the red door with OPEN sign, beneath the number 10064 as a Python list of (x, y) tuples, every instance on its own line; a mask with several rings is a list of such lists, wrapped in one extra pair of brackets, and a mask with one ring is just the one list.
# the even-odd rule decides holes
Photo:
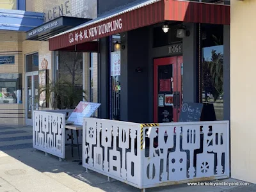
[(178, 122), (182, 104), (182, 57), (154, 60), (154, 122)]

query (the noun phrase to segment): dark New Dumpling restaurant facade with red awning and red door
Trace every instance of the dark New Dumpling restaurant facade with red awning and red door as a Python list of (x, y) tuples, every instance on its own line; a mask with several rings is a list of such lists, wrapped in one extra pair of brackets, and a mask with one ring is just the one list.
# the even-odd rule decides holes
[(228, 1), (98, 1), (97, 19), (49, 46), (89, 49), (99, 39), (100, 118), (177, 122), (182, 102), (203, 102), (205, 120), (229, 120), (229, 30)]

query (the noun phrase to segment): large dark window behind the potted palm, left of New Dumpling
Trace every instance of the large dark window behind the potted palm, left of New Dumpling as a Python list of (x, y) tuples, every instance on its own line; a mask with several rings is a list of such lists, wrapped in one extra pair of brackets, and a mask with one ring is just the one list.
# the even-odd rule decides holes
[(54, 92), (52, 107), (74, 109), (83, 100), (83, 52), (60, 51), (55, 58), (55, 77), (49, 86)]

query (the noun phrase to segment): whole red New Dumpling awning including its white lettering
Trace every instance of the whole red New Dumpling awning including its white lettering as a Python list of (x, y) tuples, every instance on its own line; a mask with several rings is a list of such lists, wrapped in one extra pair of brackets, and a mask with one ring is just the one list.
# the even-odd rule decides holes
[[(164, 20), (230, 24), (230, 6), (177, 0), (149, 0), (119, 13), (97, 18), (49, 38), (49, 50), (84, 44)], [(86, 44), (84, 44), (86, 46)]]

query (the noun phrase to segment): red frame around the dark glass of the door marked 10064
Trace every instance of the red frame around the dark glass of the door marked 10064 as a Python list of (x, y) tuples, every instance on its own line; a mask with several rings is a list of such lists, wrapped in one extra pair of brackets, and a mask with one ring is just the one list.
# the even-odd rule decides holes
[[(158, 66), (161, 65), (173, 65), (173, 79), (176, 79), (176, 83), (173, 84), (173, 90), (180, 92), (180, 106), (182, 105), (182, 72), (181, 63), (183, 63), (182, 56), (172, 56), (165, 58), (154, 59), (154, 122), (158, 122)], [(174, 94), (174, 92), (173, 92)], [(177, 106), (173, 106), (173, 118), (179, 121), (179, 110)]]

